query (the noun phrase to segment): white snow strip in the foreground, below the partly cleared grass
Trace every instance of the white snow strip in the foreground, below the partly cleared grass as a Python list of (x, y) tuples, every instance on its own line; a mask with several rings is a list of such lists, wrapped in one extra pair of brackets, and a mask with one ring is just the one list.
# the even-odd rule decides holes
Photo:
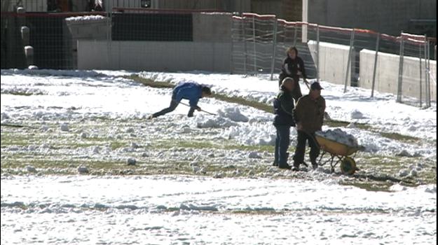
[[(436, 186), (188, 176), (1, 180), (1, 244), (436, 244)], [(25, 205), (25, 207), (22, 207)]]

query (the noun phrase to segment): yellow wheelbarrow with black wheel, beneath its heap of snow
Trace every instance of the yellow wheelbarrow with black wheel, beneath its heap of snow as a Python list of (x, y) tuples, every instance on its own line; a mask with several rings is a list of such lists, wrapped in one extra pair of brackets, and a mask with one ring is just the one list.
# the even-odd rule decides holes
[[(336, 141), (333, 141), (331, 139), (327, 139), (324, 137), (321, 137), (320, 135), (315, 135), (316, 141), (318, 145), (320, 146), (320, 149), (322, 151), (320, 155), (320, 160), (318, 161), (318, 165), (324, 166), (327, 163), (330, 163), (331, 172), (334, 172), (334, 167), (338, 165), (339, 162), (341, 162), (341, 172), (343, 174), (354, 174), (357, 170), (359, 170), (356, 167), (356, 162), (354, 160), (357, 151), (362, 150), (363, 146), (348, 146)], [(322, 158), (324, 155), (328, 154), (329, 158), (322, 162)], [(353, 155), (354, 154), (354, 155)], [(350, 155), (353, 155), (352, 157), (349, 157)]]

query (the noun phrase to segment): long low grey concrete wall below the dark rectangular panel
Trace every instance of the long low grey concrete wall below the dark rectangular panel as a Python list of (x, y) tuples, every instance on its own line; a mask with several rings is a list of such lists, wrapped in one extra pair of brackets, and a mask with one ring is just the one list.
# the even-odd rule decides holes
[(78, 40), (78, 69), (229, 72), (231, 43)]

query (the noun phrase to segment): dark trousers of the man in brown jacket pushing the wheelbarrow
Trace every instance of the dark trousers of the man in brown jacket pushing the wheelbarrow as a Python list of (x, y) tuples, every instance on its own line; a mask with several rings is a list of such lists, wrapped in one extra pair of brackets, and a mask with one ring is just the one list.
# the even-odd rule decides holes
[(295, 155), (294, 155), (294, 167), (299, 167), (301, 163), (304, 162), (304, 154), (306, 153), (306, 142), (310, 146), (310, 162), (316, 162), (316, 158), (320, 155), (320, 146), (318, 146), (315, 133), (308, 133), (302, 130), (298, 130), (298, 138), (296, 141)]

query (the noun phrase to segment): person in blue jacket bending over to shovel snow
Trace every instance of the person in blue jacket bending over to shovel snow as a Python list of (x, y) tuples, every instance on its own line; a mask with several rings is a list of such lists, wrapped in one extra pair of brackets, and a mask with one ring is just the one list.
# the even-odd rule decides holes
[(195, 110), (200, 111), (200, 107), (198, 106), (199, 99), (208, 97), (211, 94), (212, 91), (210, 90), (210, 87), (199, 85), (197, 83), (179, 83), (179, 85), (174, 87), (172, 91), (172, 101), (170, 101), (170, 106), (166, 109), (158, 111), (157, 113), (153, 113), (151, 116), (149, 116), (149, 119), (157, 118), (166, 113), (174, 111), (182, 99), (189, 99), (190, 110), (187, 116), (191, 118), (193, 117), (193, 112)]

